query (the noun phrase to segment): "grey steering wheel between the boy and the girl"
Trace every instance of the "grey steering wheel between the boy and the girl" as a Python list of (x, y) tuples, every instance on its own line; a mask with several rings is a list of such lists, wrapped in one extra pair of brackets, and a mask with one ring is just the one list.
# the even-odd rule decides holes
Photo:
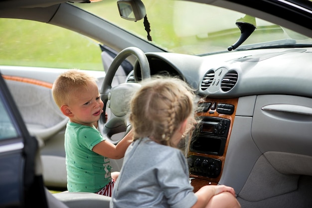
[(106, 121), (105, 113), (103, 112), (98, 121), (98, 127), (102, 135), (107, 135), (108, 139), (115, 144), (119, 141), (112, 140), (112, 136), (114, 134), (128, 132), (131, 129), (131, 125), (127, 119), (127, 114), (130, 108), (130, 100), (133, 93), (141, 87), (141, 84), (138, 83), (123, 83), (112, 88), (113, 78), (117, 69), (130, 55), (136, 56), (139, 61), (142, 80), (151, 77), (148, 58), (145, 53), (137, 47), (129, 47), (122, 50), (115, 57), (107, 70), (100, 94), (104, 103), (103, 110), (105, 111), (106, 106), (108, 106), (111, 109), (111, 117), (108, 121)]

